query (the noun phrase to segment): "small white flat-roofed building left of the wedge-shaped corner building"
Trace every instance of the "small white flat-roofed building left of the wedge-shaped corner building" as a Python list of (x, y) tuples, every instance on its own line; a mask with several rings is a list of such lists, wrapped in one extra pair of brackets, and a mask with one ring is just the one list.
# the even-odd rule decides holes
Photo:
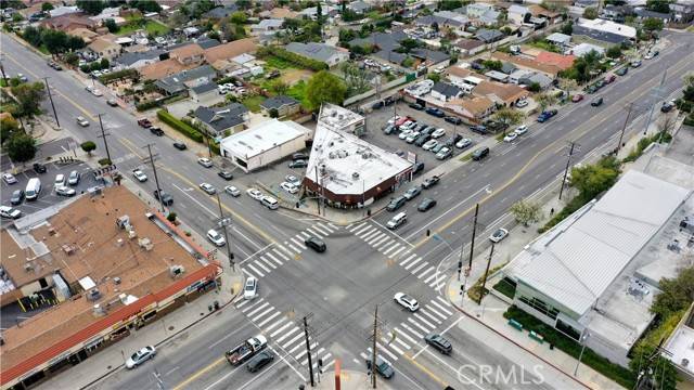
[(221, 140), (220, 151), (248, 173), (306, 147), (309, 132), (291, 120), (270, 119)]

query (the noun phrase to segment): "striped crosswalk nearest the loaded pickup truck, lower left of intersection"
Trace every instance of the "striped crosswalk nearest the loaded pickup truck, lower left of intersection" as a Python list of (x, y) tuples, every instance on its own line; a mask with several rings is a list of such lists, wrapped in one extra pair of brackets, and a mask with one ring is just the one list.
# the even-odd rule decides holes
[[(306, 336), (294, 321), (283, 315), (264, 298), (242, 300), (235, 307), (261, 329), (269, 342), (274, 342), (282, 350), (286, 360), (308, 366)], [(319, 359), (322, 360), (323, 369), (335, 363), (332, 353), (321, 347), (320, 342), (311, 335), (309, 335), (309, 343), (311, 346), (311, 365), (314, 369), (318, 369)]]

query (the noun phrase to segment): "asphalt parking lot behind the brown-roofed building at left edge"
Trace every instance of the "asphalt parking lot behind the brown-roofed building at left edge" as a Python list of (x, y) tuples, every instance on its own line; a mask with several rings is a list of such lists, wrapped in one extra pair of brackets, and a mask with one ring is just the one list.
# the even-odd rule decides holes
[[(79, 183), (77, 185), (70, 185), (70, 187), (74, 188), (78, 195), (82, 192), (86, 192), (89, 187), (101, 184), (94, 180), (94, 176), (91, 174), (91, 168), (89, 168), (87, 164), (82, 161), (75, 161), (73, 164), (49, 162), (46, 164), (46, 173), (36, 173), (29, 167), (27, 170), (15, 174), (17, 183), (14, 184), (8, 184), (2, 181), (2, 206), (11, 206), (13, 208), (16, 208), (21, 210), (24, 216), (26, 216), (65, 200), (66, 198), (64, 196), (59, 196), (55, 194), (53, 190), (53, 182), (56, 174), (62, 173), (65, 176), (65, 178), (67, 178), (69, 176), (69, 172), (73, 170), (81, 173), (81, 180), (79, 181)], [(31, 202), (27, 202), (26, 199), (24, 199), (18, 206), (10, 205), (12, 193), (16, 190), (26, 188), (26, 184), (31, 178), (39, 178), (41, 180), (41, 193), (38, 199)], [(3, 224), (9, 222), (10, 221), (7, 219), (3, 219), (2, 221)]]

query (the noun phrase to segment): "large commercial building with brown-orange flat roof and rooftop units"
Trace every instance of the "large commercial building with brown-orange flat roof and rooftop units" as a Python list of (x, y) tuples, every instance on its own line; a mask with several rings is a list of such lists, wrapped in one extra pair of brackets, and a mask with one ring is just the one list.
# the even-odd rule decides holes
[(2, 297), (60, 303), (2, 330), (2, 389), (76, 365), (218, 283), (221, 268), (206, 251), (125, 186), (37, 214), (2, 232), (2, 268), (15, 287)]

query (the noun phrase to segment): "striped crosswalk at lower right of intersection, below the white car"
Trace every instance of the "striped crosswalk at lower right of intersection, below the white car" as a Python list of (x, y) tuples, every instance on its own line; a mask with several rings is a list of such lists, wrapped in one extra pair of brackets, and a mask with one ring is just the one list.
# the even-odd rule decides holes
[[(420, 310), (408, 316), (407, 321), (394, 326), (388, 333), (376, 340), (376, 353), (378, 358), (393, 365), (402, 354), (423, 347), (424, 336), (435, 333), (451, 315), (453, 309), (440, 296), (420, 307)], [(364, 361), (371, 360), (372, 347), (359, 354)]]

